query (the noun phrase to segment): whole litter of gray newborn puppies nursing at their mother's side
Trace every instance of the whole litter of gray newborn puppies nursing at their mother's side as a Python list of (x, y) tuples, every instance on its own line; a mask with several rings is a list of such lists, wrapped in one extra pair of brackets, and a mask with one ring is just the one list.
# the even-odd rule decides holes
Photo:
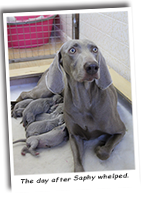
[(22, 117), (26, 138), (14, 141), (25, 142), (21, 154), (39, 155), (37, 148), (51, 148), (68, 140), (68, 131), (63, 118), (63, 97), (26, 99), (14, 105), (11, 116)]

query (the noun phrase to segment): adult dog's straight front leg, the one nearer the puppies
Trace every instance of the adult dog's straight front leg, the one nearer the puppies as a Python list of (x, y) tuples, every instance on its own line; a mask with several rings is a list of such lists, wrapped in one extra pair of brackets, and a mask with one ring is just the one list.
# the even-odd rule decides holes
[(70, 145), (74, 159), (74, 172), (83, 172), (82, 157), (84, 150), (84, 141), (79, 136), (70, 134)]

